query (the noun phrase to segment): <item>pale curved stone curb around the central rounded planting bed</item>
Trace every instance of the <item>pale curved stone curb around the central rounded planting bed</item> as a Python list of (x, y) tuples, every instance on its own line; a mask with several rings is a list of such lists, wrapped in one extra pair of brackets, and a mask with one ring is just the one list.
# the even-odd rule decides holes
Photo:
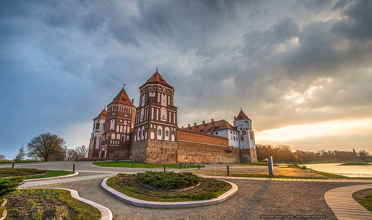
[(109, 194), (115, 196), (119, 200), (122, 200), (128, 204), (132, 204), (134, 206), (148, 207), (148, 208), (192, 208), (192, 207), (198, 207), (198, 206), (209, 206), (209, 205), (221, 203), (222, 201), (227, 200), (227, 198), (230, 198), (232, 195), (234, 195), (238, 191), (237, 185), (233, 184), (232, 182), (225, 181), (231, 184), (232, 188), (226, 193), (211, 200), (186, 201), (186, 202), (153, 202), (153, 201), (145, 201), (145, 200), (139, 200), (136, 198), (132, 198), (132, 197), (129, 197), (128, 195), (125, 195), (123, 193), (120, 193), (114, 190), (113, 188), (109, 187), (106, 184), (109, 178), (111, 177), (103, 179), (101, 183), (102, 188), (106, 190)]

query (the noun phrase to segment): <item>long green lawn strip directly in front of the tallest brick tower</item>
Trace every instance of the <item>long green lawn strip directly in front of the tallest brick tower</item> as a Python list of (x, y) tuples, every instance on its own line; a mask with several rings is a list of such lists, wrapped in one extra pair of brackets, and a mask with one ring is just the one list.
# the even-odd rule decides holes
[[(110, 167), (132, 167), (132, 162), (130, 161), (110, 161), (110, 162), (100, 162), (99, 164), (92, 163), (94, 165), (98, 166), (110, 166)], [(200, 165), (200, 168), (205, 167)], [(133, 162), (133, 168), (164, 168), (164, 164), (144, 164), (144, 163), (138, 163), (138, 162)], [(166, 164), (165, 168), (167, 169), (176, 169), (180, 168), (179, 164)], [(185, 168), (185, 165), (181, 165), (181, 168)], [(187, 164), (186, 168), (198, 168), (198, 165), (190, 165)]]

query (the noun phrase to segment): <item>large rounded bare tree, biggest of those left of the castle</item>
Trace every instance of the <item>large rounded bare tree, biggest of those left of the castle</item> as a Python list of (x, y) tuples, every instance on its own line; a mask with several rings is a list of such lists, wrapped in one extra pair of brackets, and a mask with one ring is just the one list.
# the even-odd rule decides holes
[(60, 136), (43, 133), (33, 137), (27, 143), (27, 155), (30, 157), (38, 156), (47, 161), (48, 156), (59, 153), (65, 145), (66, 141)]

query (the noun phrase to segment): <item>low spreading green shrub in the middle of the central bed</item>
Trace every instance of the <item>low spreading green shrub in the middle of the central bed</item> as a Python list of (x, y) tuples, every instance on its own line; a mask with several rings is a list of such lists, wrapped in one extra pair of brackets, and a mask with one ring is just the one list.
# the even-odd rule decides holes
[(190, 172), (145, 171), (138, 173), (137, 178), (143, 184), (166, 190), (194, 186), (200, 182), (200, 177)]

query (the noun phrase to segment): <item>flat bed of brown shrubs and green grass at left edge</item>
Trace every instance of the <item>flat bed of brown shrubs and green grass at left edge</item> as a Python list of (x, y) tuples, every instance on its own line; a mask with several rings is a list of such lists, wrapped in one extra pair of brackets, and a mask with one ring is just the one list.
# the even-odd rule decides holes
[(39, 179), (47, 177), (65, 176), (73, 173), (74, 172), (65, 170), (46, 170), (33, 168), (0, 168), (0, 178), (23, 176), (24, 179)]

